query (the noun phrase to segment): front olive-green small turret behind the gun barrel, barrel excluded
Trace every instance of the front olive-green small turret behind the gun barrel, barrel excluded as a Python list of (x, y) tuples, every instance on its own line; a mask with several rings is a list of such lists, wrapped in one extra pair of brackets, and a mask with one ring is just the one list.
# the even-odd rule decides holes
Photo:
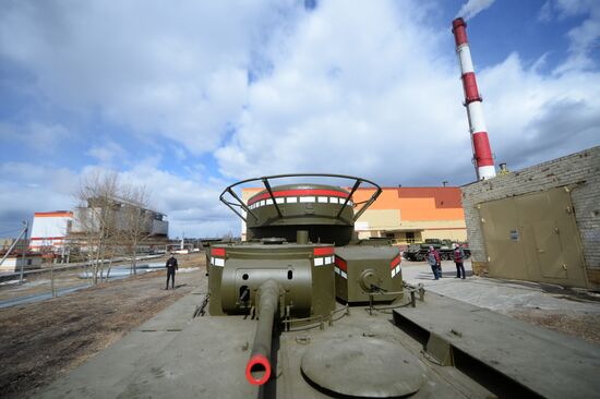
[[(248, 314), (267, 280), (281, 286), (286, 316), (328, 316), (335, 309), (334, 247), (326, 244), (226, 244), (211, 246), (208, 311)], [(248, 298), (242, 298), (248, 290)]]

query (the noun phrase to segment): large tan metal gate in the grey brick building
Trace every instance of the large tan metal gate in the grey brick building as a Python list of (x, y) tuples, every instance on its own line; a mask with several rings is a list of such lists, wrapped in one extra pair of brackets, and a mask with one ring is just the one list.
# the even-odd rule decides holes
[(587, 287), (566, 188), (479, 205), (490, 275)]

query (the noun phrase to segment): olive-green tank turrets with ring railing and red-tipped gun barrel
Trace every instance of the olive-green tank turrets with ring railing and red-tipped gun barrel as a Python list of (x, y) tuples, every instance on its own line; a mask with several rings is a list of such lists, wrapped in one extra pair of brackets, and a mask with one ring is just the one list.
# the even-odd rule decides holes
[[(351, 189), (278, 179), (349, 179)], [(262, 182), (247, 203), (235, 188)], [(361, 204), (352, 194), (362, 183), (375, 188)], [(336, 298), (346, 304), (391, 302), (401, 298), (400, 256), (396, 247), (357, 241), (355, 222), (381, 194), (365, 179), (339, 174), (281, 174), (250, 179), (224, 190), (220, 200), (247, 225), (248, 241), (213, 243), (207, 252), (211, 315), (259, 316), (247, 378), (262, 385), (272, 373), (275, 324), (333, 322)]]

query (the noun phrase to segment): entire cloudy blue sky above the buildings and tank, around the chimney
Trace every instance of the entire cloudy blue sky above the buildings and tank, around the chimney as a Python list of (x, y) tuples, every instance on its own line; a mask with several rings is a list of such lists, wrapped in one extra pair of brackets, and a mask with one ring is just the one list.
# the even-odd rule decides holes
[(237, 233), (218, 194), (262, 174), (468, 183), (458, 14), (497, 162), (598, 145), (599, 4), (0, 0), (0, 231), (97, 170), (145, 184), (171, 237)]

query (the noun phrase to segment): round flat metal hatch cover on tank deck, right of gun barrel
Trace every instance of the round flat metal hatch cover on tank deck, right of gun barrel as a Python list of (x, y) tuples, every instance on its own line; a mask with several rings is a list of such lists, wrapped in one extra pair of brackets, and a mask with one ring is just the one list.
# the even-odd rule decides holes
[(418, 359), (401, 346), (370, 337), (315, 344), (302, 356), (301, 368), (325, 390), (365, 398), (411, 395), (425, 378)]

